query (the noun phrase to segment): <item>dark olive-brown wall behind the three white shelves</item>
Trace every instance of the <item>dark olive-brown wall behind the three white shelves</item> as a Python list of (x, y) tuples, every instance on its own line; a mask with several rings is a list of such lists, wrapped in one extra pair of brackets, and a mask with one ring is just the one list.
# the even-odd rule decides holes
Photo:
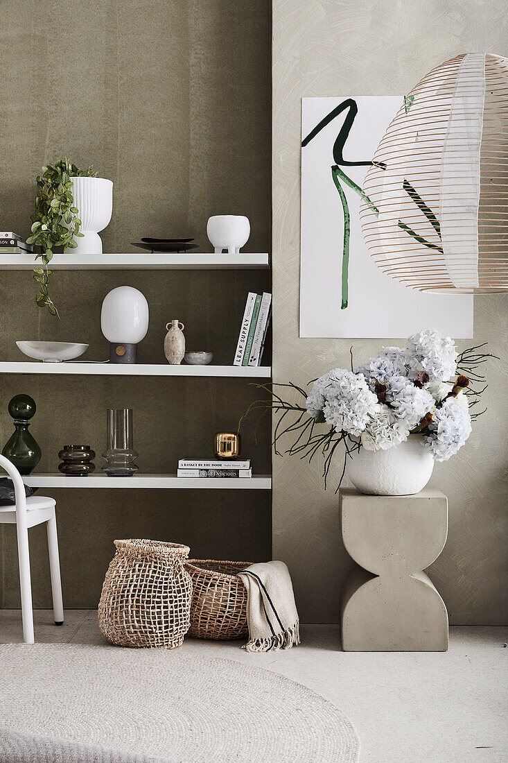
[[(245, 247), (270, 240), (270, 18), (260, 0), (14, 0), (2, 3), (0, 109), (1, 226), (27, 233), (35, 176), (61, 156), (114, 182), (105, 252), (135, 251), (143, 235), (194, 236), (211, 251), (211, 214), (246, 214)], [(149, 256), (149, 255), (147, 255)], [(232, 362), (246, 292), (269, 288), (268, 272), (56, 272), (61, 320), (34, 304), (30, 272), (0, 276), (0, 359), (21, 360), (14, 341), (88, 342), (107, 357), (101, 301), (117, 285), (140, 288), (150, 329), (140, 362), (166, 362), (168, 320), (185, 323), (188, 349)], [(86, 357), (86, 356), (85, 356)], [(269, 356), (266, 357), (269, 361)], [(37, 401), (31, 431), (43, 449), (38, 471), (56, 471), (64, 443), (105, 445), (107, 407), (132, 407), (144, 472), (175, 472), (182, 456), (211, 453), (214, 431), (236, 427), (253, 397), (246, 381), (185, 378), (1, 376), (0, 439), (11, 433), (7, 404)], [(271, 471), (268, 423), (243, 455)], [(57, 501), (64, 602), (97, 604), (114, 538), (185, 542), (191, 554), (268, 559), (270, 494), (265, 491), (52, 490)], [(0, 604), (18, 606), (14, 528), (0, 536)], [(34, 604), (50, 604), (43, 530), (31, 531)]]

